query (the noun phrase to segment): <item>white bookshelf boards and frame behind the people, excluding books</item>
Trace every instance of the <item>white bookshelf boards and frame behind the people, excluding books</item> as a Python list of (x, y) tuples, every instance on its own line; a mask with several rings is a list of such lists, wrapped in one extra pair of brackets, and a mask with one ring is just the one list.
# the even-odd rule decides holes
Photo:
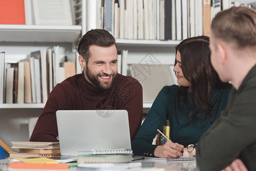
[[(76, 2), (75, 7), (81, 5), (83, 10), (75, 10), (75, 14), (86, 16), (86, 0)], [(68, 52), (76, 51), (76, 42), (86, 32), (86, 17), (77, 19), (78, 24), (73, 26), (0, 25), (0, 51), (6, 52), (6, 60), (17, 61), (25, 59), (32, 51), (59, 45), (62, 60)], [(161, 64), (173, 65), (175, 46), (180, 42), (181, 40), (116, 39), (118, 50), (129, 51), (128, 64), (140, 63), (148, 53), (152, 53)], [(151, 106), (152, 103), (144, 103), (144, 112), (147, 113)], [(11, 141), (27, 141), (28, 119), (38, 117), (43, 107), (43, 103), (0, 104), (0, 139), (9, 146)]]

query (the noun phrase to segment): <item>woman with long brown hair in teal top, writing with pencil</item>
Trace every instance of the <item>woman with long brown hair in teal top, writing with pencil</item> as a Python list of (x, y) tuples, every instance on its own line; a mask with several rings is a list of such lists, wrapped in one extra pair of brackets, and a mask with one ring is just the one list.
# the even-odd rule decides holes
[[(165, 86), (157, 95), (132, 140), (135, 155), (194, 156), (195, 148), (188, 151), (186, 146), (195, 145), (226, 107), (231, 84), (222, 83), (210, 63), (208, 36), (188, 38), (178, 44), (173, 71), (179, 86)], [(152, 145), (157, 129), (161, 129), (166, 120), (169, 120), (172, 141)]]

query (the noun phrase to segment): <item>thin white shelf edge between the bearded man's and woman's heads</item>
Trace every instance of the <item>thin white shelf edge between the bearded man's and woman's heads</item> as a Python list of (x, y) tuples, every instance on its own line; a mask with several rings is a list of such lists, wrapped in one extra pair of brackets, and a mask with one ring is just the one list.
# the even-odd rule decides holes
[(180, 43), (180, 40), (134, 40), (134, 39), (116, 39), (118, 46), (159, 46), (174, 47)]

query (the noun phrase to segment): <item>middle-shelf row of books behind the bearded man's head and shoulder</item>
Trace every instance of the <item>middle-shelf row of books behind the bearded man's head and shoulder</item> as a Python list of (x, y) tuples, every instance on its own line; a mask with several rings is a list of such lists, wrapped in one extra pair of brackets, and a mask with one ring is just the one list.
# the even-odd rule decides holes
[[(59, 46), (31, 52), (19, 62), (6, 62), (5, 52), (0, 53), (0, 104), (46, 103), (48, 95), (57, 83), (82, 73), (78, 53), (71, 53), (74, 62), (64, 58), (60, 63)], [(127, 75), (128, 51), (117, 55), (117, 70)], [(123, 67), (122, 67), (123, 66)]]

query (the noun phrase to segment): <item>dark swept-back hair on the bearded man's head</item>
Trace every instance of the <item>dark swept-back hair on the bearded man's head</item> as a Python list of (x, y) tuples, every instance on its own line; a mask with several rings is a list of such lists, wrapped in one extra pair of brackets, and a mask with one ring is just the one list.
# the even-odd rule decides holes
[(87, 31), (86, 34), (82, 36), (78, 45), (78, 53), (88, 62), (91, 56), (90, 47), (92, 45), (100, 47), (110, 47), (113, 44), (116, 46), (115, 38), (107, 31), (103, 29), (94, 29)]

